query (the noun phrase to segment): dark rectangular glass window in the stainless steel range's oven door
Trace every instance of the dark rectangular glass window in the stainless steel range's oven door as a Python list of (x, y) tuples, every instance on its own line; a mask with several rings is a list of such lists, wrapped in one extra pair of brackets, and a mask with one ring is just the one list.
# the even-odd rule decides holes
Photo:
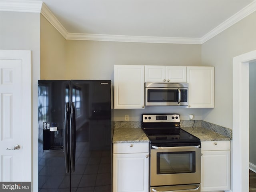
[(158, 152), (157, 174), (196, 172), (196, 152)]

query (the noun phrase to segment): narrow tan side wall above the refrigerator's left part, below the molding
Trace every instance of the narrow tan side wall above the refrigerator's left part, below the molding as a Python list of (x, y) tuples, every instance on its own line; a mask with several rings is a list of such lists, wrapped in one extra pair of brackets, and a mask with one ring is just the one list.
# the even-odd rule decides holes
[(66, 39), (40, 16), (40, 79), (65, 80)]

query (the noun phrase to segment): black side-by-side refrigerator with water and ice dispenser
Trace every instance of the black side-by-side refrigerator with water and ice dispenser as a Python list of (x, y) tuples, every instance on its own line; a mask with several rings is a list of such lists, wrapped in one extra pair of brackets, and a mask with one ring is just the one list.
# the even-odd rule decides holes
[(112, 191), (110, 80), (38, 80), (38, 191)]

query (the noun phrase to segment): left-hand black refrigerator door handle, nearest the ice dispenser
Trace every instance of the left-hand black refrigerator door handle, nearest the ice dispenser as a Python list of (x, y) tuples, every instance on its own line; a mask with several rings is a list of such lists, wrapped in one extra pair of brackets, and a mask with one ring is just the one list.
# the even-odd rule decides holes
[(70, 157), (69, 157), (69, 142), (68, 142), (68, 135), (69, 135), (69, 126), (70, 126), (70, 106), (69, 103), (66, 103), (66, 110), (65, 110), (65, 122), (64, 122), (64, 156), (65, 156), (65, 167), (66, 173), (69, 172), (69, 165), (70, 165)]

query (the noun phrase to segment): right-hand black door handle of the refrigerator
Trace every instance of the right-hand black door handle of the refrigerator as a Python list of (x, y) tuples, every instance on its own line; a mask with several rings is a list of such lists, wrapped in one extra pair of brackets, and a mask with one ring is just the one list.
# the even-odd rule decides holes
[(71, 172), (75, 171), (76, 159), (76, 114), (75, 103), (71, 104), (71, 118), (70, 118), (70, 165)]

